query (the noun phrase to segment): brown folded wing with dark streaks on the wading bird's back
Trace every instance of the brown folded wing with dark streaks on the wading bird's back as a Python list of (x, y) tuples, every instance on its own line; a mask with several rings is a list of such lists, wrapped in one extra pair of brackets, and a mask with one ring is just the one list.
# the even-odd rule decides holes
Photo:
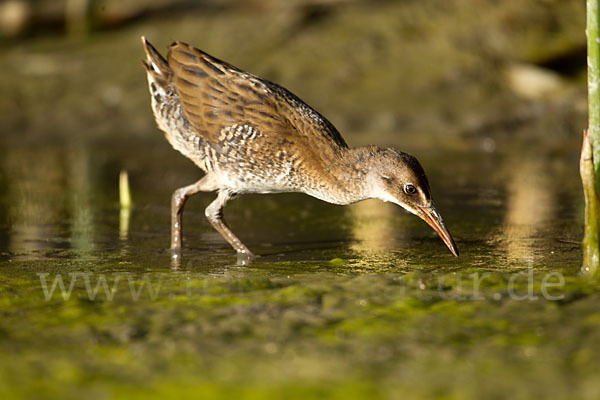
[(217, 142), (223, 127), (238, 124), (333, 151), (347, 147), (329, 121), (272, 82), (181, 42), (171, 46), (167, 58), (185, 116), (204, 139)]

